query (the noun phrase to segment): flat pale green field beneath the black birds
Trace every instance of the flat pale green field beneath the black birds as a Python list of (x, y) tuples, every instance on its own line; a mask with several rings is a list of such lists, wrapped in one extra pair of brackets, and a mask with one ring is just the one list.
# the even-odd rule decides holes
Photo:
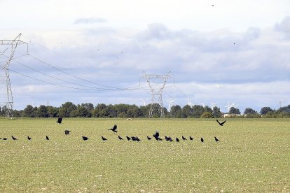
[[(0, 119), (0, 192), (290, 192), (289, 119), (55, 121)], [(148, 141), (156, 130), (195, 139)]]

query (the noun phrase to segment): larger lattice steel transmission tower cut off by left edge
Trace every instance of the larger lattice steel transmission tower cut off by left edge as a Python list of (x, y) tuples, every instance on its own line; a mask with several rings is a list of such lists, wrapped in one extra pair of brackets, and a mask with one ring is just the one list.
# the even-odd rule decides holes
[[(7, 57), (7, 59), (5, 61), (0, 63), (0, 73), (5, 74), (6, 94), (7, 94), (6, 101), (0, 101), (0, 106), (1, 106), (1, 108), (4, 108), (7, 117), (13, 117), (13, 96), (12, 96), (12, 90), (11, 90), (10, 77), (9, 77), (9, 65), (11, 64), (14, 52), (15, 52), (18, 44), (26, 44), (27, 45), (27, 52), (28, 52), (28, 44), (23, 42), (23, 41), (20, 41), (20, 36), (21, 36), (21, 34), (19, 34), (14, 40), (0, 40), (0, 45), (11, 46), (10, 57)], [(8, 48), (6, 48), (6, 50), (8, 50)], [(4, 52), (6, 52), (6, 50), (4, 50), (3, 52), (0, 51), (0, 55), (4, 55)], [(4, 97), (4, 99), (5, 99), (5, 97)]]

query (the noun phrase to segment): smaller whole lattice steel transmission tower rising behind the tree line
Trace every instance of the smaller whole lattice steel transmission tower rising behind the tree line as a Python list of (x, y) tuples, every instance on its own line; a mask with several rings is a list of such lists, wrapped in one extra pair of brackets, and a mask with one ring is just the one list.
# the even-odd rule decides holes
[[(162, 92), (166, 85), (167, 79), (171, 78), (169, 76), (169, 73), (170, 72), (168, 72), (166, 75), (145, 74), (144, 76), (141, 77), (141, 78), (146, 78), (146, 81), (151, 90), (151, 106), (149, 109), (149, 118), (153, 117), (153, 113), (155, 109), (158, 109), (158, 112), (160, 113), (161, 118), (165, 118), (164, 109), (163, 109), (163, 101), (162, 101)], [(154, 85), (153, 85), (153, 81), (151, 81), (152, 79), (161, 80), (162, 82), (158, 81), (159, 84), (156, 84), (157, 87), (153, 87)], [(160, 82), (162, 84), (160, 84)]]

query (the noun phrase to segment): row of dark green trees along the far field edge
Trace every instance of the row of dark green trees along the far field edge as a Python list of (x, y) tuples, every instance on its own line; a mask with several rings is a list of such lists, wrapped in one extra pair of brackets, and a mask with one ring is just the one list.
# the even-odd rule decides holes
[[(156, 104), (155, 106), (159, 106)], [(136, 106), (129, 104), (109, 104), (98, 103), (94, 106), (92, 103), (74, 104), (71, 102), (63, 103), (60, 107), (54, 106), (32, 106), (27, 105), (23, 110), (13, 110), (13, 117), (120, 117), (120, 118), (136, 118), (148, 117), (151, 104), (147, 106)], [(6, 117), (5, 106), (0, 108), (0, 116)], [(160, 108), (160, 106), (159, 106)], [(220, 118), (223, 116), (220, 108), (209, 106), (172, 106), (170, 111), (163, 108), (166, 118)], [(279, 108), (278, 110), (270, 107), (261, 108), (260, 112), (252, 108), (246, 108), (243, 116), (241, 116), (238, 108), (230, 108), (231, 117), (247, 117), (247, 118), (279, 118), (290, 117), (290, 105)], [(158, 108), (153, 111), (154, 117), (160, 117)]]

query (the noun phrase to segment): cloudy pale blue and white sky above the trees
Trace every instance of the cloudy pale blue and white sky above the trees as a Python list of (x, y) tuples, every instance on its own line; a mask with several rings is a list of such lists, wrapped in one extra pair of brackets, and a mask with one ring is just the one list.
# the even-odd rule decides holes
[[(0, 0), (15, 109), (188, 103), (260, 111), (290, 104), (290, 1)], [(6, 48), (8, 48), (6, 50)], [(0, 45), (0, 66), (11, 47)], [(0, 101), (6, 76), (0, 72)], [(163, 78), (146, 80), (150, 75)], [(152, 90), (151, 90), (152, 89)]]

